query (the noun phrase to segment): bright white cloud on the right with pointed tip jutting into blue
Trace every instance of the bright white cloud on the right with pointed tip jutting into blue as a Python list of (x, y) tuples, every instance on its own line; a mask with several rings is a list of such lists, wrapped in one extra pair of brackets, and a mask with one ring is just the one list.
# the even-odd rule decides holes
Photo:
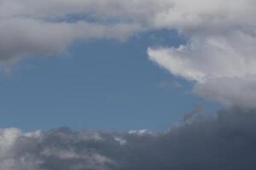
[(178, 48), (148, 48), (149, 59), (194, 82), (196, 94), (225, 105), (255, 107), (255, 2), (173, 1), (155, 26), (188, 38)]

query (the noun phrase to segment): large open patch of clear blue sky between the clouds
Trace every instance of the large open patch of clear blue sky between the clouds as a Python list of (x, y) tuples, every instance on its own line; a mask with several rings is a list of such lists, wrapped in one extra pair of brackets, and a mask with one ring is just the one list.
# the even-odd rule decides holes
[(191, 93), (148, 59), (148, 46), (183, 43), (176, 31), (114, 40), (74, 42), (68, 54), (26, 59), (2, 75), (2, 127), (166, 130), (195, 105), (218, 105)]

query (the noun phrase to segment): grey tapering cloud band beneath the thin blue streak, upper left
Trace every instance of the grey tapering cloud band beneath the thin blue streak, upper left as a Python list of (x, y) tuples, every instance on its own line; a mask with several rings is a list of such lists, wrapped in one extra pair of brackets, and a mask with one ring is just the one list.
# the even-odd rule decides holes
[(48, 22), (33, 19), (0, 20), (0, 59), (20, 59), (27, 55), (47, 56), (61, 53), (76, 40), (89, 38), (123, 39), (135, 25), (116, 24), (105, 26), (86, 21), (75, 23)]

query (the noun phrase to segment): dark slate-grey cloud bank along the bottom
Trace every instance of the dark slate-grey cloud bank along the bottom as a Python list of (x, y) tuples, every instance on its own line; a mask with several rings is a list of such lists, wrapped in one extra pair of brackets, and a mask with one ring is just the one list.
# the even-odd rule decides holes
[(0, 130), (1, 170), (248, 169), (256, 167), (255, 111), (192, 111), (166, 133)]

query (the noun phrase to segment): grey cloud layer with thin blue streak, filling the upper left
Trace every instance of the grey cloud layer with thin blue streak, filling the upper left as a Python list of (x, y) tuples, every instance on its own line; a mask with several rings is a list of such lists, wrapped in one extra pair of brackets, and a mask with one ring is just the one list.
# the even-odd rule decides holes
[(1, 0), (0, 59), (63, 53), (74, 41), (125, 40), (146, 31), (168, 1)]

